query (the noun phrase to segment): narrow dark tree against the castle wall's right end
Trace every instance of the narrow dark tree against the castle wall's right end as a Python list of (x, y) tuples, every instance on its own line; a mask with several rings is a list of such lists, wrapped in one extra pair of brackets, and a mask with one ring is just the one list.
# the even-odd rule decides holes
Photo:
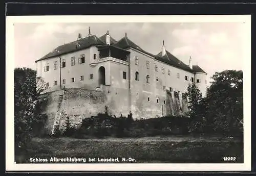
[(188, 98), (188, 112), (191, 122), (188, 129), (191, 132), (203, 132), (205, 127), (204, 118), (204, 100), (202, 98), (202, 93), (198, 89), (195, 83), (189, 84), (187, 87), (187, 92), (184, 94)]

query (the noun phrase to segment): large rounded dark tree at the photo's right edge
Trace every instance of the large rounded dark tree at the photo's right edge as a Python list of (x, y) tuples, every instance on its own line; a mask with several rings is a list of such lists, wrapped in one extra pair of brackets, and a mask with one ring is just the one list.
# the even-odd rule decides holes
[(207, 89), (206, 116), (208, 125), (216, 132), (242, 132), (243, 71), (216, 72)]

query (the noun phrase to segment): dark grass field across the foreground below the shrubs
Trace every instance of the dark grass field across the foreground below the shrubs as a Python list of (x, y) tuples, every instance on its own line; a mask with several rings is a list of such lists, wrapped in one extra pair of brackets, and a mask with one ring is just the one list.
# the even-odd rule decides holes
[[(145, 138), (33, 138), (27, 154), (15, 156), (16, 163), (29, 158), (134, 158), (136, 163), (243, 163), (243, 142), (221, 137)], [(223, 161), (236, 157), (236, 161)], [(121, 163), (122, 161), (120, 161)]]

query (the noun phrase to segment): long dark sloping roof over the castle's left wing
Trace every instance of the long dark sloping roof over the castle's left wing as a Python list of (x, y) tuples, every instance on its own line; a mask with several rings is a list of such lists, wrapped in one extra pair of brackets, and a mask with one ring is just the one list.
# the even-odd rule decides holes
[[(77, 47), (77, 43), (80, 45), (79, 47)], [(47, 55), (45, 55), (44, 57), (40, 58), (37, 61), (55, 57), (55, 56), (59, 56), (62, 54), (71, 53), (74, 51), (78, 51), (80, 49), (88, 48), (92, 45), (105, 45), (105, 43), (103, 41), (101, 41), (97, 36), (91, 35), (86, 38), (82, 38), (81, 40), (76, 40), (76, 41), (58, 46), (51, 53), (48, 53)], [(59, 51), (59, 52), (57, 52), (57, 51)], [(37, 61), (35, 61), (35, 62), (37, 62)]]

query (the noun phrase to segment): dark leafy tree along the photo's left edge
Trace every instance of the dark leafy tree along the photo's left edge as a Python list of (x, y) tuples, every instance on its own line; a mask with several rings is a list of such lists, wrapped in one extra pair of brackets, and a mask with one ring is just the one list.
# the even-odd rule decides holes
[(38, 125), (45, 119), (40, 110), (45, 103), (40, 98), (46, 85), (40, 78), (36, 78), (36, 71), (30, 68), (14, 69), (14, 125), (15, 148), (17, 151), (26, 150)]

